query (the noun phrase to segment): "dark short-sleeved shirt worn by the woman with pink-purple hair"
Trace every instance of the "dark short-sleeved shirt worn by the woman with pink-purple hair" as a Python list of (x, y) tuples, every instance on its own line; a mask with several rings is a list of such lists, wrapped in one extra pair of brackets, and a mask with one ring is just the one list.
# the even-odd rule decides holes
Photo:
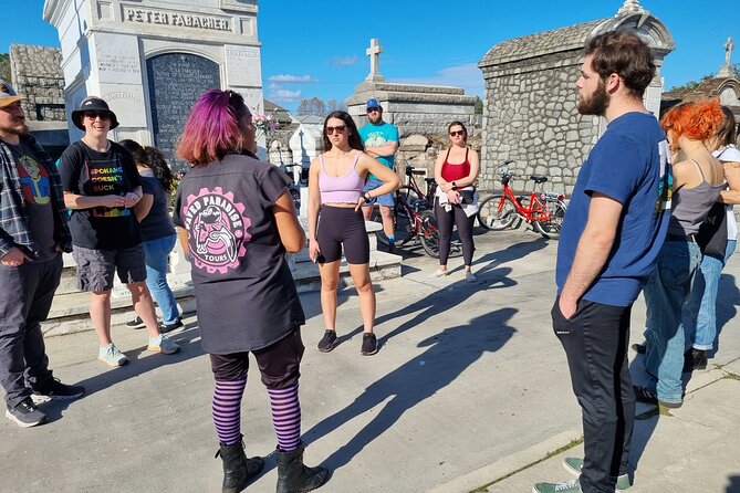
[(174, 222), (188, 232), (204, 349), (264, 348), (305, 323), (274, 221), (290, 178), (241, 155), (188, 171)]

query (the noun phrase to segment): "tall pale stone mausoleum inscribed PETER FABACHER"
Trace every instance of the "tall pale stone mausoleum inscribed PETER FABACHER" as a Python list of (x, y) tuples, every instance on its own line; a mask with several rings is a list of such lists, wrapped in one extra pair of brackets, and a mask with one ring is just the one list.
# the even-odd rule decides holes
[[(195, 101), (231, 88), (263, 113), (258, 0), (45, 0), (59, 31), (66, 114), (88, 95), (111, 105), (112, 138), (173, 149)], [(70, 139), (81, 137), (69, 123)], [(263, 145), (264, 143), (262, 143)]]

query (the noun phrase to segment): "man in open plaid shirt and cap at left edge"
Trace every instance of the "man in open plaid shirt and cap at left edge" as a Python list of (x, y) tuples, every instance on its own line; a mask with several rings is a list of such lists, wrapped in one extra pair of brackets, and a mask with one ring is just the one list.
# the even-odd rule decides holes
[(72, 243), (59, 174), (29, 134), (21, 99), (0, 80), (0, 384), (6, 416), (28, 428), (46, 421), (34, 399), (74, 399), (85, 389), (49, 369), (40, 322)]

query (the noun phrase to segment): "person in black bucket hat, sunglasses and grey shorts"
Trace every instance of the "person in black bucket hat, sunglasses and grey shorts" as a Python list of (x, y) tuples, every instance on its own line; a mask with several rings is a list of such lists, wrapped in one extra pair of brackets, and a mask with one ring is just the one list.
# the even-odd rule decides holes
[(159, 332), (154, 301), (145, 284), (142, 233), (133, 212), (142, 198), (136, 164), (126, 149), (107, 138), (108, 132), (118, 126), (118, 118), (105, 101), (91, 96), (72, 112), (72, 123), (85, 135), (64, 150), (59, 169), (64, 201), (72, 209), (77, 287), (92, 293), (90, 316), (100, 342), (97, 360), (112, 367), (128, 363), (111, 339), (115, 272), (131, 291), (134, 310), (149, 333), (147, 350), (177, 353), (179, 346)]

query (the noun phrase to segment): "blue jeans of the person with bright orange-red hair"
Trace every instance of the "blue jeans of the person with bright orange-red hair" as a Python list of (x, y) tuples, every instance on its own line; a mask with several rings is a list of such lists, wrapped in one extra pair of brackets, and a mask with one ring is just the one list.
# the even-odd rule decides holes
[(657, 379), (650, 390), (664, 402), (682, 401), (684, 352), (686, 334), (681, 308), (689, 295), (701, 252), (699, 245), (686, 240), (666, 239), (658, 263), (645, 286), (647, 327), (645, 370)]

